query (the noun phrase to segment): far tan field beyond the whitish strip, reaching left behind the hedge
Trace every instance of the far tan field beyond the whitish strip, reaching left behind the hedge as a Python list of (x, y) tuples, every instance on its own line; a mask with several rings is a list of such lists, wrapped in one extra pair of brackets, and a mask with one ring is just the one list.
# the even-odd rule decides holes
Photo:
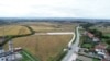
[(29, 25), (36, 33), (45, 32), (73, 32), (77, 26), (76, 23), (58, 23), (58, 22), (24, 22), (18, 25)]

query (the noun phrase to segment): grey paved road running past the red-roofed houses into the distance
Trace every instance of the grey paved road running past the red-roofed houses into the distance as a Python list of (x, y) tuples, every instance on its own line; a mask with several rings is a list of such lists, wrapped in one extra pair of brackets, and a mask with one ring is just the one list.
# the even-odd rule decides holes
[(62, 61), (75, 61), (76, 58), (78, 57), (77, 52), (79, 50), (78, 48), (78, 44), (79, 44), (79, 32), (78, 32), (78, 28), (76, 28), (76, 40), (75, 40), (75, 44), (73, 44), (70, 46), (70, 50), (68, 50), (68, 53), (64, 57), (64, 59)]

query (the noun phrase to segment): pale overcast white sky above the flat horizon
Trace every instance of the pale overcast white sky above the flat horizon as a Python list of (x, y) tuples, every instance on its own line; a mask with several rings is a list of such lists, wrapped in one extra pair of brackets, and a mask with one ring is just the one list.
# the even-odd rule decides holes
[(110, 0), (0, 0), (0, 17), (110, 19)]

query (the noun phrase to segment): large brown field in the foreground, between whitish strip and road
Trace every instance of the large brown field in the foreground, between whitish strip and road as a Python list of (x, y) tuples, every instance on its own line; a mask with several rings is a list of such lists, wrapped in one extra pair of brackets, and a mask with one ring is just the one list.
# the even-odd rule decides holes
[(73, 35), (33, 35), (29, 37), (15, 38), (14, 47), (22, 47), (41, 61), (54, 59), (63, 48), (65, 48)]

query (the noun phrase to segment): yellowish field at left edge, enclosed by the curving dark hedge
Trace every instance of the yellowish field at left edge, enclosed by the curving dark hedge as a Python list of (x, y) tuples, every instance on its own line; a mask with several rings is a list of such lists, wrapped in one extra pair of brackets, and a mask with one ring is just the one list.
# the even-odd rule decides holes
[(9, 25), (0, 27), (0, 36), (3, 35), (23, 35), (31, 33), (26, 27), (20, 25)]

